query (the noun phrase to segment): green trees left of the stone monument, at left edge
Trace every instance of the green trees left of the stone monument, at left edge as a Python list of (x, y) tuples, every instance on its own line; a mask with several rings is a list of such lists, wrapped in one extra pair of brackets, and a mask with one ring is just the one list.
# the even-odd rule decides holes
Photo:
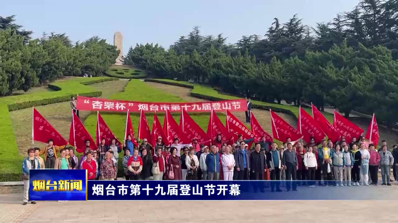
[(101, 75), (119, 54), (99, 37), (73, 44), (65, 33), (44, 33), (34, 40), (31, 34), (15, 23), (15, 16), (0, 16), (0, 96), (62, 76)]

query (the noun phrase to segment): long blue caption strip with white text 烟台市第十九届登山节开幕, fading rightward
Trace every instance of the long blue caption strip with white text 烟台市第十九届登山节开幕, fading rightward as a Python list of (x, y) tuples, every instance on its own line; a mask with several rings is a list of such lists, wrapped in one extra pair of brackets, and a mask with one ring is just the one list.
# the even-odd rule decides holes
[[(268, 185), (266, 185), (266, 182)], [(274, 181), (289, 184), (292, 181)], [(292, 185), (293, 186), (293, 185)], [(381, 191), (373, 186), (298, 186), (272, 192), (270, 181), (153, 181), (89, 180), (87, 200), (396, 200), (391, 187)], [(390, 189), (390, 190), (389, 190)], [(375, 194), (377, 193), (377, 194)]]

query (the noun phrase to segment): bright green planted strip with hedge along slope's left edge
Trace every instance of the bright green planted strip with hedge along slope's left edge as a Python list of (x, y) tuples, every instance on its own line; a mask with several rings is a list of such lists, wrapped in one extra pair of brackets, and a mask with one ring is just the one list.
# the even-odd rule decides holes
[(54, 90), (51, 92), (38, 92), (0, 98), (0, 181), (21, 180), (21, 162), (25, 157), (19, 156), (16, 149), (17, 145), (9, 111), (65, 102), (77, 94), (86, 97), (100, 96), (100, 91), (84, 85), (110, 80), (117, 80), (117, 78), (73, 78), (49, 84), (48, 87)]

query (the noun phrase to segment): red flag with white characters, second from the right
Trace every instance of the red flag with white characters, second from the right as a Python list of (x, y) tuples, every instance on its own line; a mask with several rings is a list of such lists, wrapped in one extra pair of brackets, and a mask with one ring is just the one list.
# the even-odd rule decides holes
[(364, 133), (362, 128), (356, 126), (354, 123), (349, 121), (343, 115), (334, 111), (333, 127), (341, 134), (345, 136), (347, 142), (351, 142), (353, 137), (358, 138)]

